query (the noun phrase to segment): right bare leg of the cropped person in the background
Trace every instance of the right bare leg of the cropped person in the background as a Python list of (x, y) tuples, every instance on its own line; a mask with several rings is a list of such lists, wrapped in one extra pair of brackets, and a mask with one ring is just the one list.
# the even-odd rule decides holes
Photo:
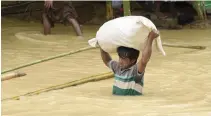
[(79, 36), (79, 38), (83, 38), (82, 32), (81, 32), (81, 28), (80, 25), (78, 24), (78, 22), (76, 21), (76, 19), (74, 18), (68, 18), (67, 19), (69, 21), (69, 23), (71, 23), (73, 25), (73, 29), (75, 30), (77, 36)]

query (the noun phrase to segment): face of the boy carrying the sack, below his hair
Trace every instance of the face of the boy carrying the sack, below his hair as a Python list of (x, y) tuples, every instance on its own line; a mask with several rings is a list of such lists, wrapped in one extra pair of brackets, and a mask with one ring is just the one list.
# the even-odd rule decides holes
[(130, 60), (129, 58), (119, 57), (119, 65), (120, 65), (121, 69), (127, 69), (134, 63), (135, 63), (135, 60)]

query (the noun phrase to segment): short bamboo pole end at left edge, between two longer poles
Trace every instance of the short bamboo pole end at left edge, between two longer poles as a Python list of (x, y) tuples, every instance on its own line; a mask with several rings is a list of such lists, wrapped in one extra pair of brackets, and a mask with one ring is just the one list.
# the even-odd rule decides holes
[(22, 76), (25, 76), (26, 73), (21, 73), (21, 72), (13, 72), (13, 73), (10, 73), (10, 74), (7, 74), (7, 75), (3, 75), (1, 77), (1, 81), (6, 81), (6, 80), (9, 80), (9, 79), (14, 79), (14, 78), (17, 78), (17, 77), (22, 77)]

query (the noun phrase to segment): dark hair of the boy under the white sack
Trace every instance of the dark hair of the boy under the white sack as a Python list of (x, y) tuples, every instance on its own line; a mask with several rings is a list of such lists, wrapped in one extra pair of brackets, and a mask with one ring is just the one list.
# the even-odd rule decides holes
[(130, 60), (137, 60), (139, 56), (138, 50), (123, 46), (117, 48), (117, 53), (120, 58), (129, 58)]

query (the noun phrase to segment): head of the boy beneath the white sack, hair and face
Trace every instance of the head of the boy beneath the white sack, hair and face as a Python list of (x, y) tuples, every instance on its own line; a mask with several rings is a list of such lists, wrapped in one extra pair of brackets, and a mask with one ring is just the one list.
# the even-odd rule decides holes
[(117, 48), (119, 64), (122, 69), (127, 69), (137, 62), (139, 51), (133, 48), (120, 46)]

